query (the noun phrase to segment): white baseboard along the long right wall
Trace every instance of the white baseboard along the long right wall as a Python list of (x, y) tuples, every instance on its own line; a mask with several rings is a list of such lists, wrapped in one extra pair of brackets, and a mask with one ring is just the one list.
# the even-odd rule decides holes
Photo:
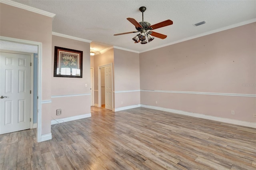
[(159, 111), (177, 113), (177, 114), (180, 114), (180, 115), (198, 117), (198, 118), (208, 119), (208, 120), (212, 120), (212, 121), (219, 121), (219, 122), (224, 122), (224, 123), (231, 123), (231, 124), (234, 124), (234, 125), (256, 128), (256, 123), (252, 123), (252, 122), (238, 121), (238, 120), (234, 120), (234, 119), (203, 115), (203, 114), (199, 114), (199, 113), (192, 113), (192, 112), (180, 111), (180, 110), (175, 110), (175, 109), (168, 109), (168, 108), (157, 107), (157, 106), (141, 105), (141, 107), (146, 107), (146, 108), (149, 108), (149, 109), (155, 109), (155, 110), (159, 110)]

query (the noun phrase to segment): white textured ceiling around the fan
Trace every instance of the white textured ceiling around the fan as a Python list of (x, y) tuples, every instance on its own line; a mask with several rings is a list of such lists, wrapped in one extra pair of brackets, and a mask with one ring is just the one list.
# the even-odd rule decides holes
[[(13, 0), (40, 10), (56, 14), (52, 31), (68, 36), (91, 40), (94, 51), (111, 46), (138, 52), (148, 51), (192, 37), (209, 34), (236, 25), (256, 22), (256, 1), (248, 0)], [(151, 25), (172, 20), (173, 25), (158, 28), (155, 32), (167, 35), (155, 38), (147, 44), (134, 43), (136, 33), (113, 36), (136, 31), (126, 18), (144, 21)], [(206, 21), (201, 26), (193, 26)], [(241, 24), (242, 22), (242, 24)], [(240, 24), (239, 24), (240, 23)]]

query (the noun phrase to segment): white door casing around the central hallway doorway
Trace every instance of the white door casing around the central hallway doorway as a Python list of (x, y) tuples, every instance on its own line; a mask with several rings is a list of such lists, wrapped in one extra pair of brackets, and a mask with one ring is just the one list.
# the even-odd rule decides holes
[(112, 63), (98, 66), (98, 105), (99, 105), (99, 107), (101, 107), (101, 72), (100, 72), (100, 69), (104, 68), (104, 67), (108, 67), (108, 66), (111, 67), (111, 81), (112, 81), (111, 90), (112, 90), (112, 111), (113, 111), (113, 66), (112, 66)]

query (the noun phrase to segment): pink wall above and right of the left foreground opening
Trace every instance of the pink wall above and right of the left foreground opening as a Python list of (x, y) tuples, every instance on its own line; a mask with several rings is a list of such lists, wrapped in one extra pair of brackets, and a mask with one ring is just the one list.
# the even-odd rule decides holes
[[(52, 18), (1, 3), (0, 21), (0, 36), (42, 42), (42, 100), (50, 100)], [(51, 132), (50, 107), (42, 105), (42, 134)]]

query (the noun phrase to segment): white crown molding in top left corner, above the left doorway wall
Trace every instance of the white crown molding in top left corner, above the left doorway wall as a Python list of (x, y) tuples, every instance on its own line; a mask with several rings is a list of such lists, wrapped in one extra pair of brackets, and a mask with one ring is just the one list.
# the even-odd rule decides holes
[(51, 17), (51, 18), (54, 18), (54, 16), (56, 15), (56, 14), (53, 14), (51, 12), (40, 10), (40, 9), (31, 7), (31, 6), (27, 6), (27, 5), (24, 5), (24, 4), (20, 4), (18, 2), (11, 1), (11, 0), (0, 0), (0, 2), (3, 3), (3, 4), (6, 4), (6, 5), (21, 8), (21, 9), (24, 9), (24, 10), (27, 10), (27, 11), (30, 11), (30, 12), (35, 12), (37, 14), (48, 16), (48, 17)]

